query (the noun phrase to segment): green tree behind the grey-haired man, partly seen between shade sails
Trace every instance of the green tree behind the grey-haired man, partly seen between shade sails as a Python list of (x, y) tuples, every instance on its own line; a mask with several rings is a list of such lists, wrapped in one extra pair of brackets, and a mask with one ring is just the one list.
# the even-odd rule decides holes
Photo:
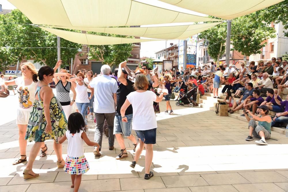
[[(96, 35), (105, 35), (108, 37), (125, 37), (125, 38), (133, 38), (132, 36), (124, 36), (124, 35), (114, 35), (108, 33), (96, 33), (96, 32), (88, 32), (90, 34)], [(88, 45), (89, 53), (88, 59), (96, 59), (101, 61), (102, 64), (107, 64), (111, 68), (114, 65), (118, 65), (119, 63), (127, 60), (131, 55), (131, 51), (133, 49), (132, 43), (126, 44), (116, 44), (116, 45)]]

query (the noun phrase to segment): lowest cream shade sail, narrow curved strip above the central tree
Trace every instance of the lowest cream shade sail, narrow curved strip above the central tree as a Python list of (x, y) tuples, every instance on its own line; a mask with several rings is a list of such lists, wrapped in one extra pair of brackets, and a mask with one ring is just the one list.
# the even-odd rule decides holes
[(63, 39), (72, 41), (74, 43), (84, 45), (114, 45), (123, 43), (139, 43), (147, 41), (160, 41), (160, 39), (131, 39), (122, 37), (107, 37), (102, 35), (92, 35), (86, 33), (77, 33), (72, 31), (64, 31), (60, 29), (53, 29), (47, 27), (40, 27), (41, 29), (53, 33)]

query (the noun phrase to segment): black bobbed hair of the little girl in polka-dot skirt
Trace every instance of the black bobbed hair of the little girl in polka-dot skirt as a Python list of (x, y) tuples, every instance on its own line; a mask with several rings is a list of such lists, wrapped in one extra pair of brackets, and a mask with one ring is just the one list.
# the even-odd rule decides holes
[(82, 115), (78, 112), (71, 113), (68, 118), (68, 130), (70, 133), (79, 133), (80, 130), (86, 132), (85, 122)]

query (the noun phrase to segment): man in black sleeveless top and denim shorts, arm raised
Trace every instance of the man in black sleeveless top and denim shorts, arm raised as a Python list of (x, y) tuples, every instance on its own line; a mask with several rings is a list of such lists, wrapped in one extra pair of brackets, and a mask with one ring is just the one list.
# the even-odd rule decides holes
[(123, 136), (127, 137), (129, 140), (133, 142), (133, 145), (135, 146), (134, 151), (137, 146), (137, 140), (135, 136), (131, 134), (132, 118), (133, 118), (132, 105), (130, 105), (125, 112), (125, 117), (127, 117), (128, 122), (123, 122), (122, 118), (120, 117), (121, 116), (120, 109), (126, 100), (126, 96), (134, 91), (133, 83), (127, 78), (128, 73), (124, 70), (124, 66), (126, 66), (126, 61), (120, 63), (118, 71), (115, 71), (118, 77), (118, 81), (120, 81), (120, 85), (116, 92), (117, 105), (115, 111), (113, 134), (115, 134), (116, 139), (121, 147), (121, 153), (116, 157), (116, 159), (122, 159), (128, 156)]

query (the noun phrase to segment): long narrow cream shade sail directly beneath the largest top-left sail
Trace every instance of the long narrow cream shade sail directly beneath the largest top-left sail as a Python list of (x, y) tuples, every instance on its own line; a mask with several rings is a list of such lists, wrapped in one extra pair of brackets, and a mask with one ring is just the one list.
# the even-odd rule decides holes
[(163, 27), (57, 27), (68, 28), (80, 31), (93, 31), (99, 33), (110, 33), (117, 35), (129, 35), (135, 37), (146, 37), (153, 39), (187, 39), (195, 34), (205, 31), (221, 22), (179, 25), (179, 26), (163, 26)]

